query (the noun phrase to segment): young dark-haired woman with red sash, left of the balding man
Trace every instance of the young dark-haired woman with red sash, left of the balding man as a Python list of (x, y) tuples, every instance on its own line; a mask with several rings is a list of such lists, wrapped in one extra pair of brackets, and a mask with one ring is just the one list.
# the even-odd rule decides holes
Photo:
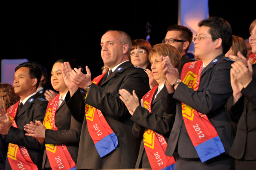
[(45, 144), (43, 169), (76, 168), (79, 139), (82, 123), (73, 118), (65, 100), (69, 100), (70, 93), (64, 83), (61, 63), (69, 62), (72, 69), (78, 68), (72, 58), (56, 61), (52, 67), (51, 84), (59, 94), (53, 97), (47, 107), (44, 122), (35, 121), (26, 124), (26, 135), (38, 139)]

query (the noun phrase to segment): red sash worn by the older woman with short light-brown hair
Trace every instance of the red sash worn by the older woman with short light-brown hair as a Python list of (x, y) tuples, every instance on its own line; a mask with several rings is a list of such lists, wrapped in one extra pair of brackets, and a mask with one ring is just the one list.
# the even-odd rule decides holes
[[(151, 102), (154, 92), (158, 86), (155, 86), (143, 96), (144, 107), (151, 113)], [(143, 134), (143, 143), (148, 156), (148, 161), (152, 170), (169, 169), (174, 170), (175, 159), (173, 156), (165, 155), (167, 143), (163, 135), (150, 129), (145, 129)]]

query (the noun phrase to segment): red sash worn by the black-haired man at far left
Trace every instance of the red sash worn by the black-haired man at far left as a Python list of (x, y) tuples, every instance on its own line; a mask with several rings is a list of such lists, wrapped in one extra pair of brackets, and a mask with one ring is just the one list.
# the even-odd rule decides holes
[[(9, 113), (12, 126), (16, 128), (18, 127), (14, 119), (17, 113), (19, 103), (20, 101), (7, 109), (7, 113)], [(26, 147), (10, 143), (8, 146), (7, 157), (13, 170), (38, 170), (36, 164), (34, 164), (31, 160)]]

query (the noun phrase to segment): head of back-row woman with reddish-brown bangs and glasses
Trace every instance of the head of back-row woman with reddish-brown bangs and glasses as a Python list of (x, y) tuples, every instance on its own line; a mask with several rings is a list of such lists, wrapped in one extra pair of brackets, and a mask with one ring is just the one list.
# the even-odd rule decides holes
[(132, 65), (143, 68), (150, 69), (150, 62), (148, 61), (148, 54), (151, 51), (152, 46), (146, 40), (133, 40), (131, 44), (131, 52), (129, 60)]

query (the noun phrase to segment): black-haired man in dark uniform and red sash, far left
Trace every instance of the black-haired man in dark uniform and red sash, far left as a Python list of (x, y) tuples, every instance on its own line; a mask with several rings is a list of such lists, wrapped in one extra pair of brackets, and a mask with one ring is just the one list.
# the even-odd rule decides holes
[(26, 62), (15, 68), (13, 86), (15, 93), (20, 96), (20, 101), (10, 107), (6, 115), (0, 117), (0, 134), (6, 135), (6, 142), (10, 143), (6, 170), (16, 170), (20, 167), (42, 169), (44, 149), (39, 147), (38, 140), (26, 136), (24, 130), (27, 123), (44, 119), (48, 102), (38, 98), (36, 89), (40, 79), (41, 69), (35, 63)]

